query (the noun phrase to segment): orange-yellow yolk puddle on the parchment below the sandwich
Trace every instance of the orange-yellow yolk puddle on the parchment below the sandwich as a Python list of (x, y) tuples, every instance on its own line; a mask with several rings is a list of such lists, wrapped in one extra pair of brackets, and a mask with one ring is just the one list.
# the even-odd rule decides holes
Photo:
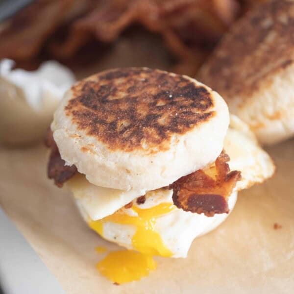
[(122, 284), (139, 281), (156, 269), (156, 263), (149, 255), (123, 250), (110, 252), (97, 264), (97, 269), (112, 282)]

